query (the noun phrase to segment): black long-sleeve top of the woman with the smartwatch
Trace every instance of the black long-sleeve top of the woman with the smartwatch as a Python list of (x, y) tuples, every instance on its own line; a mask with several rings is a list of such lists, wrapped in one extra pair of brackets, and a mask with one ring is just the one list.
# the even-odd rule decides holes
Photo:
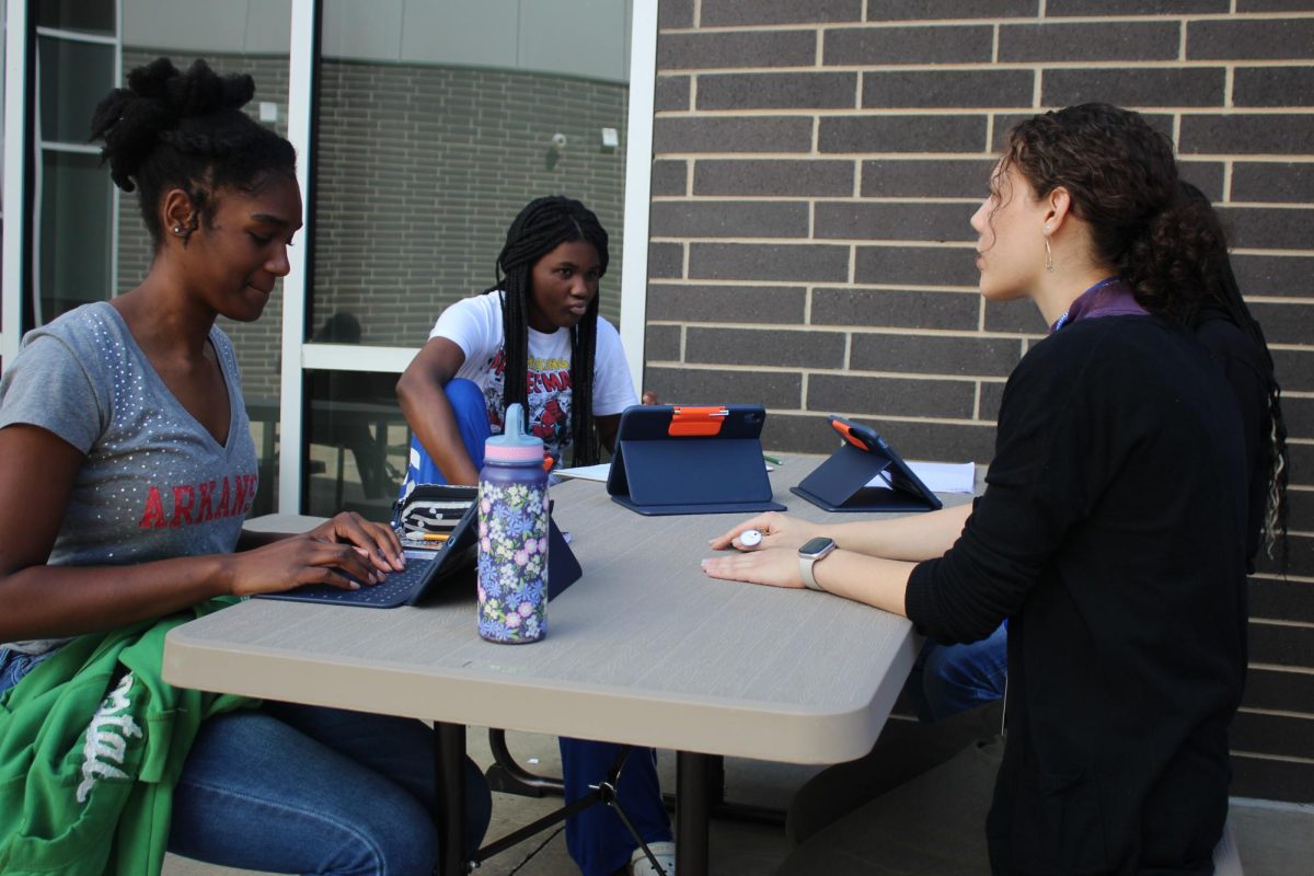
[(941, 641), (1010, 619), (996, 872), (1210, 872), (1246, 671), (1243, 460), (1219, 369), (1166, 322), (1076, 322), (1009, 377), (986, 493), (907, 591)]

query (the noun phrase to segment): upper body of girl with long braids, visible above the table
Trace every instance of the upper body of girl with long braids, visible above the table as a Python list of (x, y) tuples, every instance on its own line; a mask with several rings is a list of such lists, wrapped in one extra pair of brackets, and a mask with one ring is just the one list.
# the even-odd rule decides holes
[(620, 335), (598, 315), (607, 260), (607, 231), (579, 201), (543, 197), (520, 210), (497, 282), (444, 310), (397, 382), (413, 447), (424, 450), (413, 453), (407, 485), (477, 483), (484, 441), (516, 402), (558, 460), (573, 448), (574, 465), (593, 465), (612, 449), (636, 399)]

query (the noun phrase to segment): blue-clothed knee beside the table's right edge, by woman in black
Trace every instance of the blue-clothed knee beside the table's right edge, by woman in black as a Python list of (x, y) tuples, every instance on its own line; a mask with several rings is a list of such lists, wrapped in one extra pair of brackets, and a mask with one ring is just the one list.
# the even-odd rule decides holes
[(942, 645), (928, 638), (904, 691), (921, 721), (942, 721), (1004, 696), (1008, 678), (1008, 626), (971, 645)]

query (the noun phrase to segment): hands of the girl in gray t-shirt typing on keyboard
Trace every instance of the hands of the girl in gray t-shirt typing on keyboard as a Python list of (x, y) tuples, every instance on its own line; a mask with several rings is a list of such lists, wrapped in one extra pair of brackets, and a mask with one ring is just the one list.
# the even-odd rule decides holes
[(389, 527), (343, 512), (305, 535), (229, 556), (229, 590), (235, 596), (279, 592), (302, 584), (357, 590), (356, 578), (377, 584), (405, 569), (402, 544)]

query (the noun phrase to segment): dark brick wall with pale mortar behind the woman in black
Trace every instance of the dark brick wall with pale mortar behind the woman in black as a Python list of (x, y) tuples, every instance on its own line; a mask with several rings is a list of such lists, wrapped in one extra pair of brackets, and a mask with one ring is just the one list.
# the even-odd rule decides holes
[(1285, 393), (1292, 562), (1251, 584), (1234, 793), (1314, 800), (1314, 1), (661, 0), (645, 383), (988, 461), (1045, 331), (976, 293), (968, 217), (1008, 127), (1144, 112), (1218, 202)]

